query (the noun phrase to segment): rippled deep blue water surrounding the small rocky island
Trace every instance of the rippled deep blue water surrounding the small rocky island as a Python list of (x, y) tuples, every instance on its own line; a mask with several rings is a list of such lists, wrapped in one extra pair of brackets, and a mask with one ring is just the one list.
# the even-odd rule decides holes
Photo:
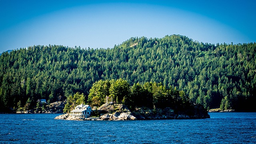
[(0, 114), (0, 143), (256, 143), (256, 113), (210, 119), (65, 121), (59, 114)]

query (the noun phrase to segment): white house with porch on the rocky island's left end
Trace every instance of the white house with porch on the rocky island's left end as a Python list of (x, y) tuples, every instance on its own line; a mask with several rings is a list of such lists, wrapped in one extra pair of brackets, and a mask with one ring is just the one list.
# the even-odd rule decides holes
[(78, 105), (73, 109), (73, 111), (70, 111), (70, 115), (75, 117), (83, 117), (83, 118), (89, 118), (92, 112), (92, 108), (90, 105)]

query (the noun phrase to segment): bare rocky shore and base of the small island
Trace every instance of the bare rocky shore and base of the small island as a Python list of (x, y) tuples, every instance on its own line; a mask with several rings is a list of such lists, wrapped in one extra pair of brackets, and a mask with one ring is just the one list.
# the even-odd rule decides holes
[(210, 118), (208, 112), (200, 107), (193, 111), (175, 112), (173, 109), (149, 109), (147, 107), (136, 108), (130, 111), (126, 105), (103, 104), (97, 109), (92, 109), (90, 118), (75, 117), (70, 114), (63, 114), (55, 119), (64, 120), (152, 120), (152, 119), (206, 119)]

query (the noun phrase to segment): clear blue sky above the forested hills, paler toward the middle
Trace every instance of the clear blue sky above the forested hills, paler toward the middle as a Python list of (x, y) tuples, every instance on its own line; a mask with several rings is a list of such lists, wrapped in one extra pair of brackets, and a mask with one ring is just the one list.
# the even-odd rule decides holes
[(172, 34), (256, 42), (256, 0), (0, 0), (0, 53), (49, 44), (112, 48)]

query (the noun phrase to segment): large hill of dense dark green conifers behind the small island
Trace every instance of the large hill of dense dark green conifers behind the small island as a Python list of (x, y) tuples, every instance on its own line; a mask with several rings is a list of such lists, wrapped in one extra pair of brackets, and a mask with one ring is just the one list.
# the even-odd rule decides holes
[(256, 43), (208, 44), (185, 36), (131, 38), (112, 49), (32, 46), (0, 56), (0, 111), (38, 99), (88, 95), (98, 80), (162, 82), (205, 108), (256, 111)]

